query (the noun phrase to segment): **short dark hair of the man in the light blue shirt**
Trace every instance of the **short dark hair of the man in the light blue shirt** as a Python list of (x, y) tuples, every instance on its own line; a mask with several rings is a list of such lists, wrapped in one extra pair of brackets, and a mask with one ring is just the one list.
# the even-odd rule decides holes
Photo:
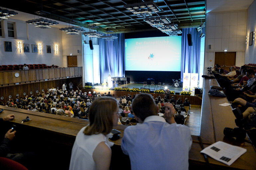
[(157, 115), (157, 107), (150, 94), (138, 94), (132, 101), (132, 110), (134, 115), (144, 121), (145, 118)]

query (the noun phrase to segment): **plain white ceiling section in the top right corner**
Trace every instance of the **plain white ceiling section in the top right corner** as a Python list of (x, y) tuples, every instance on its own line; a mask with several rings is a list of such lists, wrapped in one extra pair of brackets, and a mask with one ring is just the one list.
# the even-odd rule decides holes
[(206, 0), (206, 13), (247, 10), (254, 0)]

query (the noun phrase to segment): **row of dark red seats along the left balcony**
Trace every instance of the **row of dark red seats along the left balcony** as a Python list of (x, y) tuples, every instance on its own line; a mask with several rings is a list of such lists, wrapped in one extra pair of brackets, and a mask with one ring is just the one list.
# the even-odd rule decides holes
[[(23, 64), (19, 64), (19, 65), (0, 65), (0, 71), (10, 71), (10, 70), (22, 70), (23, 68)], [(44, 68), (52, 68), (52, 66), (50, 65), (46, 65), (46, 64), (27, 64), (27, 66), (29, 67), (29, 69), (44, 69)], [(59, 68), (58, 65), (54, 65), (54, 68)]]

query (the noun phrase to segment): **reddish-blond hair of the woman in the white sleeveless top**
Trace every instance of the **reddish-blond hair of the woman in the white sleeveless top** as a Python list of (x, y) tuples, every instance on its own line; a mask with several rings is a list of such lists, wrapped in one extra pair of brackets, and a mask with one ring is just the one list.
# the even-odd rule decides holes
[(113, 114), (118, 111), (117, 101), (111, 97), (100, 97), (89, 109), (90, 124), (84, 129), (86, 135), (108, 134), (113, 128)]

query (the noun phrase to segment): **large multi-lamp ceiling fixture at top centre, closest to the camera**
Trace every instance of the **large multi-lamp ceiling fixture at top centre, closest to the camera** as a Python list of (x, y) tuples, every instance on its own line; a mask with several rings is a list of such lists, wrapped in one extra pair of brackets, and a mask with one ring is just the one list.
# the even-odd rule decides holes
[(154, 1), (140, 2), (124, 5), (124, 8), (131, 11), (137, 17), (149, 17), (152, 13), (162, 11)]

